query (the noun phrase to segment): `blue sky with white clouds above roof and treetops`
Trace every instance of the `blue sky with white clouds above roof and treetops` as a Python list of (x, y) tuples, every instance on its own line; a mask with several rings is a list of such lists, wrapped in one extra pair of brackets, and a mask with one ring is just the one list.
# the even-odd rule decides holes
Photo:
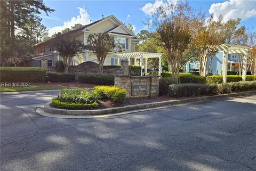
[[(167, 0), (175, 2), (177, 0)], [(256, 31), (256, 0), (228, 1), (188, 1), (195, 10), (202, 10), (206, 16), (214, 14), (217, 18), (223, 15), (223, 20), (241, 18), (241, 26)], [(40, 17), (44, 26), (49, 28), (50, 36), (76, 23), (86, 25), (90, 20), (96, 21), (114, 14), (119, 20), (132, 23), (135, 34), (145, 26), (150, 12), (158, 6), (165, 5), (165, 0), (154, 1), (44, 1), (45, 5), (55, 11), (49, 16), (42, 12)]]

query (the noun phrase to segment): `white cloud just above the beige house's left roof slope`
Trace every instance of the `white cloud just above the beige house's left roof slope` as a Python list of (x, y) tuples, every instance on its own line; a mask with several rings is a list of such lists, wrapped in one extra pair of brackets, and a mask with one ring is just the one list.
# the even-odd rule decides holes
[(88, 14), (88, 12), (82, 8), (82, 7), (78, 7), (77, 8), (79, 10), (79, 15), (77, 15), (77, 17), (72, 17), (71, 20), (64, 22), (62, 26), (55, 26), (52, 28), (49, 28), (49, 35), (53, 35), (55, 32), (60, 32), (61, 30), (65, 29), (65, 28), (71, 28), (71, 26), (74, 26), (77, 23), (80, 23), (82, 25), (87, 25), (90, 23), (90, 15)]

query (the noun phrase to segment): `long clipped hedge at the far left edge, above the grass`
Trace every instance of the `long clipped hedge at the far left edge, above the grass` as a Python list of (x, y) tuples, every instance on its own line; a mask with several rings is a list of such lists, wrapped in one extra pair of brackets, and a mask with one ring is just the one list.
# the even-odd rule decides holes
[(1, 82), (44, 82), (46, 70), (41, 67), (0, 67)]

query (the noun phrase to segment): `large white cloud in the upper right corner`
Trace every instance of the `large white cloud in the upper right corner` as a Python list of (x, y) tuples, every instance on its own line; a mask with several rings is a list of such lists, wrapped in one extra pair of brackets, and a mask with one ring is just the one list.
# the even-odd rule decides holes
[(229, 0), (222, 3), (214, 3), (211, 5), (209, 13), (214, 14), (214, 19), (222, 15), (224, 21), (236, 18), (249, 19), (256, 17), (256, 0)]

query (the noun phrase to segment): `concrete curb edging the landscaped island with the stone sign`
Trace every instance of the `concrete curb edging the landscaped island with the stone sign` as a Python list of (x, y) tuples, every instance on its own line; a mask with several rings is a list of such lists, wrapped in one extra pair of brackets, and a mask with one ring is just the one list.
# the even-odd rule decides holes
[[(96, 117), (109, 117), (117, 115), (126, 115), (128, 113), (134, 113), (139, 111), (155, 110), (159, 108), (167, 108), (170, 105), (180, 105), (186, 103), (202, 103), (215, 100), (229, 99), (230, 97), (236, 97), (240, 95), (253, 95), (256, 91), (240, 92), (232, 94), (221, 94), (214, 96), (195, 97), (182, 100), (169, 100), (163, 102), (143, 103), (135, 105), (126, 105), (124, 107), (108, 108), (108, 109), (96, 109), (96, 110), (67, 110), (57, 109), (50, 107), (50, 103), (46, 103), (43, 107), (37, 108), (37, 112), (43, 116), (60, 117), (61, 118), (96, 118)], [(66, 116), (66, 117), (64, 117)]]

